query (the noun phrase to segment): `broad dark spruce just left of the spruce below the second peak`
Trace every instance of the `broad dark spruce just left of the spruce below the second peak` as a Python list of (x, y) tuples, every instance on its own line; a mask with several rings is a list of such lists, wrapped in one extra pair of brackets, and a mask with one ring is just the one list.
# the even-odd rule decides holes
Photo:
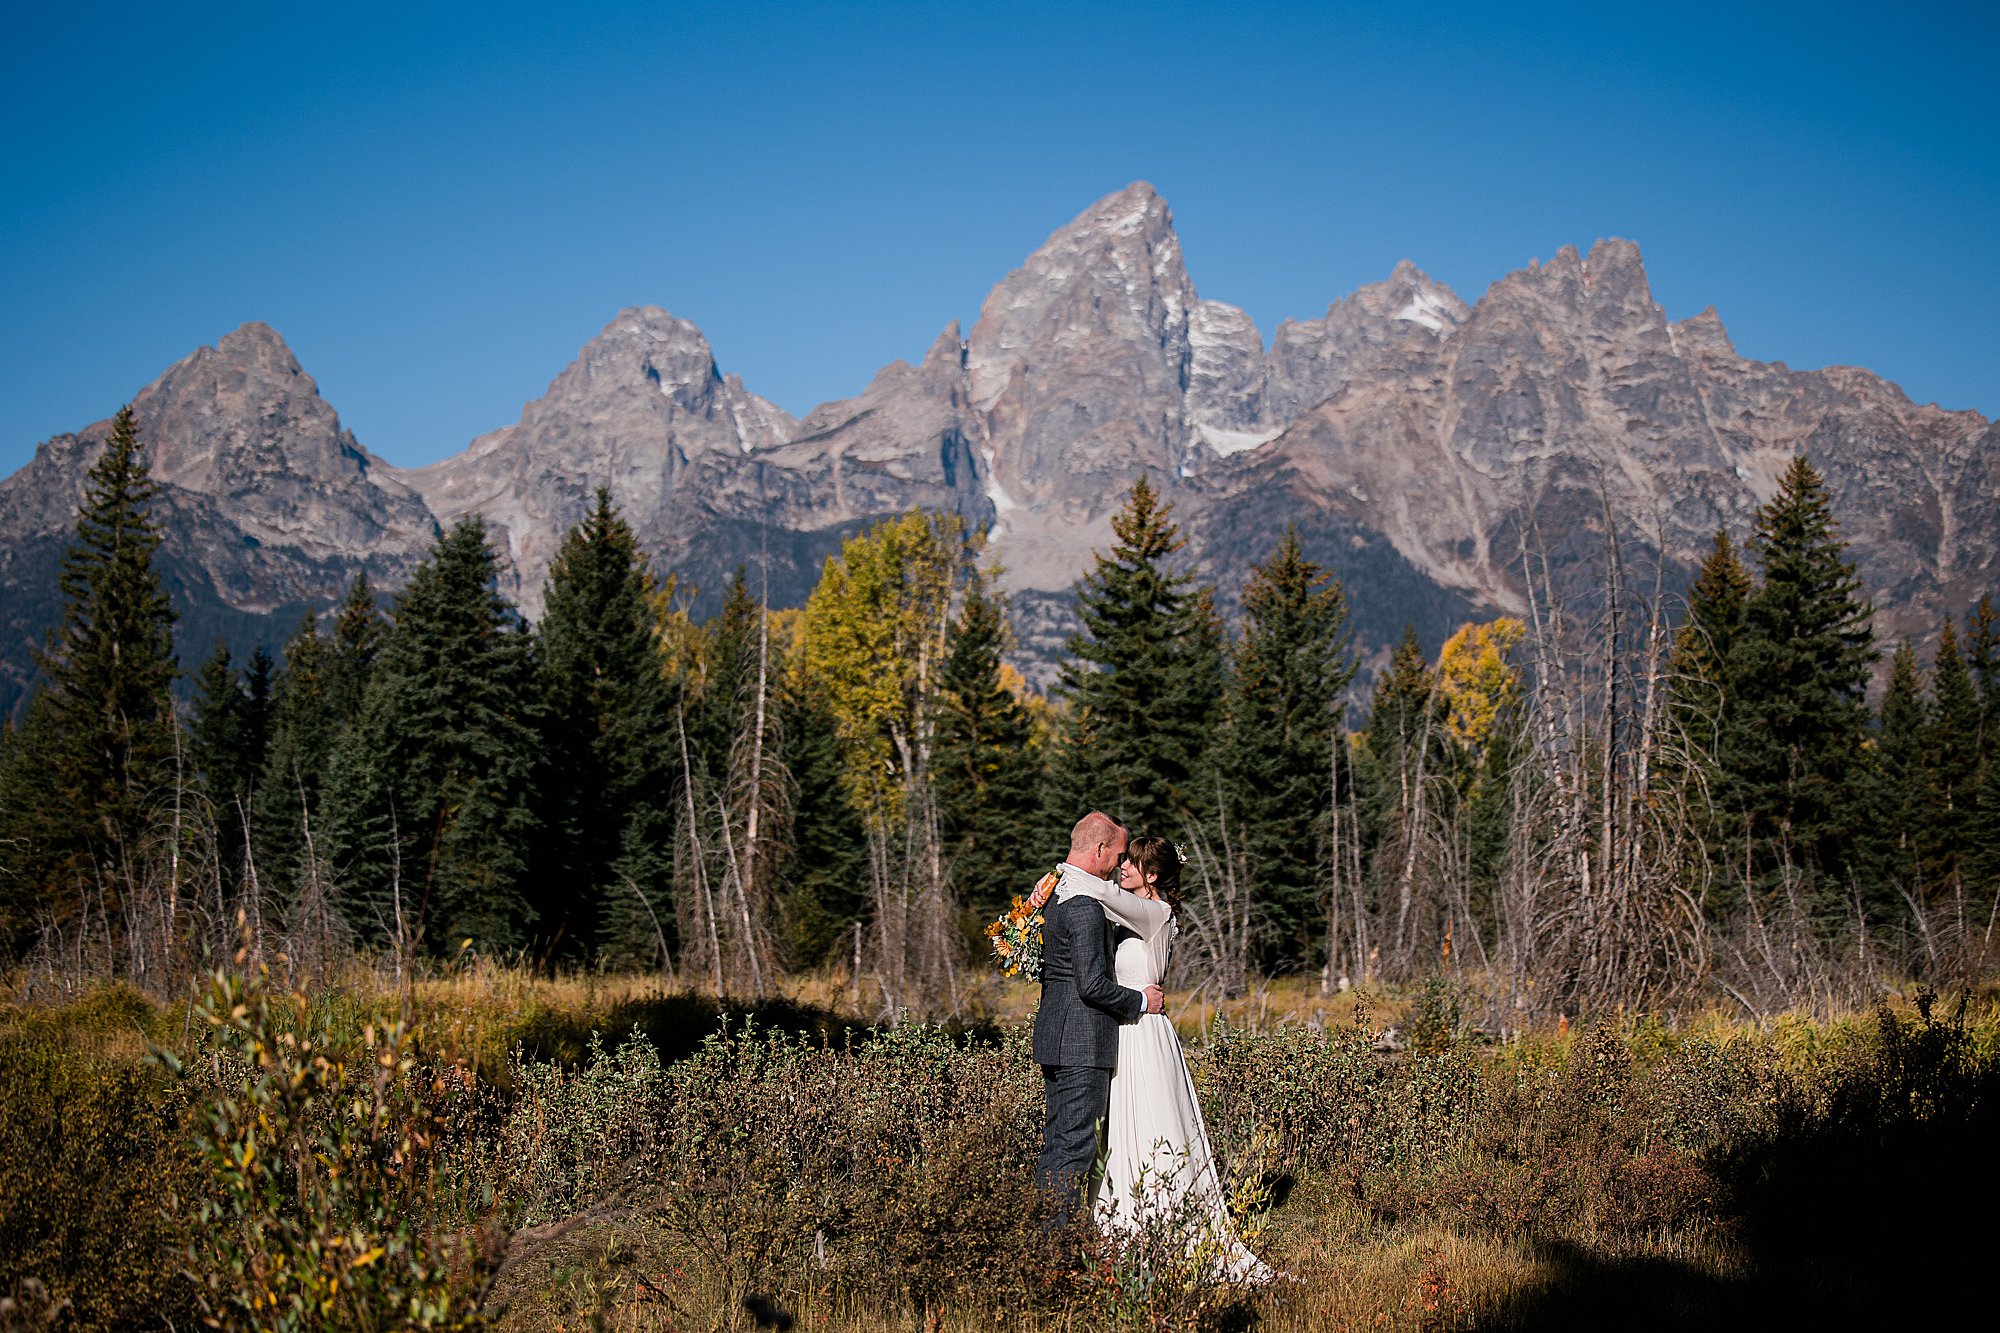
[(328, 775), (350, 925), (382, 941), (520, 949), (534, 909), (534, 642), (464, 518), (396, 598), (362, 717)]

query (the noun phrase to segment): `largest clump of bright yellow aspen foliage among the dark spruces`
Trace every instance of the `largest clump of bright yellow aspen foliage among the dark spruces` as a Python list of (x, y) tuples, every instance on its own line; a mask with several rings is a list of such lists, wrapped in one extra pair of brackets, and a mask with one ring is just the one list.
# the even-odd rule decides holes
[(804, 660), (826, 687), (856, 805), (880, 819), (930, 761), (930, 715), (966, 524), (912, 510), (850, 536), (806, 598)]

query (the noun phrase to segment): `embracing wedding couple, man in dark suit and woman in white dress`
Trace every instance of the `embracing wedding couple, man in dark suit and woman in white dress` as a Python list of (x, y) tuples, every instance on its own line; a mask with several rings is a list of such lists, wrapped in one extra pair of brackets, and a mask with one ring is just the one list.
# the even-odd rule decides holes
[[(1192, 1225), (1188, 1243), (1218, 1257), (1218, 1277), (1270, 1281), (1230, 1227), (1188, 1061), (1162, 1013), (1180, 931), (1180, 853), (1166, 839), (1132, 839), (1092, 811), (1070, 835), (1054, 881), (1030, 907), (1054, 897), (1042, 911), (1034, 1063), (1048, 1097), (1036, 1183), (1054, 1195), (1056, 1221), (1096, 1193), (1108, 1231), (1162, 1219)], [(1092, 1191), (1100, 1143), (1104, 1179)]]

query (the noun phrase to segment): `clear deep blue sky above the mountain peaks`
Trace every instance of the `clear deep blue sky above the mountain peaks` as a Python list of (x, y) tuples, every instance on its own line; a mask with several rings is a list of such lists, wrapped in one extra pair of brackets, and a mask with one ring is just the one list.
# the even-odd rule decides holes
[(640, 302), (804, 412), (1130, 180), (1266, 342), (1628, 236), (1750, 356), (1994, 414), (1996, 8), (20, 4), (0, 472), (244, 320), (402, 464)]

